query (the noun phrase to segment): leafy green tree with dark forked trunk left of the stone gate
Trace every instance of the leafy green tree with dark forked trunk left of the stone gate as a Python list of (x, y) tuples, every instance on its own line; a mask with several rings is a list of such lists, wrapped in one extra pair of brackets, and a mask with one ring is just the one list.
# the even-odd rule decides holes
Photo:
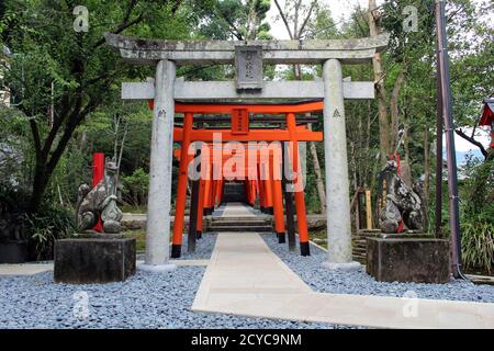
[[(31, 212), (42, 205), (49, 179), (76, 128), (109, 102), (120, 79), (146, 75), (146, 69), (122, 64), (119, 55), (104, 45), (103, 33), (187, 36), (191, 12), (180, 11), (181, 2), (85, 1), (89, 21), (85, 32), (76, 31), (80, 21), (86, 21), (72, 14), (76, 1), (5, 1), (7, 20), (2, 20), (0, 34), (14, 53), (7, 76), (18, 107), (29, 118), (35, 150)], [(9, 13), (18, 14), (14, 21)], [(52, 102), (54, 120), (49, 125), (46, 114)]]

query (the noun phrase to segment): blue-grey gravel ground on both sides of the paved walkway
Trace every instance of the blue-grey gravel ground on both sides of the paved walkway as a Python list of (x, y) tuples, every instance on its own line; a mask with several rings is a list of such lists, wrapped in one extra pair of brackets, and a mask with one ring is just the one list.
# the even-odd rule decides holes
[[(209, 258), (216, 237), (204, 235), (193, 256), (187, 253), (184, 246), (182, 258)], [(442, 285), (380, 283), (363, 270), (329, 272), (321, 267), (326, 253), (317, 247), (312, 246), (312, 256), (304, 258), (289, 253), (287, 246), (279, 245), (273, 235), (262, 237), (314, 291), (384, 296), (403, 296), (413, 291), (422, 298), (494, 302), (494, 287), (489, 285), (453, 280)], [(125, 282), (104, 285), (55, 284), (52, 272), (3, 276), (0, 278), (0, 328), (347, 328), (191, 312), (204, 272), (204, 267), (179, 267), (164, 274), (138, 271)]]

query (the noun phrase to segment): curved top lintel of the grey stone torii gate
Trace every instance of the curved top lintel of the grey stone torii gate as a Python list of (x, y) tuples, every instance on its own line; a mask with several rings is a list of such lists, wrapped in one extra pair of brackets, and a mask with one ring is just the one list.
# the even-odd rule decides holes
[(138, 39), (105, 33), (106, 43), (130, 63), (154, 64), (173, 60), (178, 65), (233, 64), (235, 47), (262, 46), (262, 61), (267, 64), (322, 64), (340, 59), (345, 64), (371, 61), (373, 55), (384, 50), (390, 35), (330, 41), (160, 41)]

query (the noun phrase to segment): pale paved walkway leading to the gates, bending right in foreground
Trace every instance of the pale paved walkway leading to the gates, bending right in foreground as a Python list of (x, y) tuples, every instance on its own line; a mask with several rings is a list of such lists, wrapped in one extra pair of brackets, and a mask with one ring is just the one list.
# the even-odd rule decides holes
[(314, 293), (254, 233), (218, 235), (192, 310), (378, 328), (494, 328), (494, 304)]

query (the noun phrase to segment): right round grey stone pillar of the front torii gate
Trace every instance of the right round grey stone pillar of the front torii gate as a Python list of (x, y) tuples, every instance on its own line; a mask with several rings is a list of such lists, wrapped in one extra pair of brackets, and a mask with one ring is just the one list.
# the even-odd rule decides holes
[(326, 219), (328, 269), (355, 270), (351, 260), (350, 195), (341, 64), (328, 59), (324, 79), (324, 157), (326, 169)]

